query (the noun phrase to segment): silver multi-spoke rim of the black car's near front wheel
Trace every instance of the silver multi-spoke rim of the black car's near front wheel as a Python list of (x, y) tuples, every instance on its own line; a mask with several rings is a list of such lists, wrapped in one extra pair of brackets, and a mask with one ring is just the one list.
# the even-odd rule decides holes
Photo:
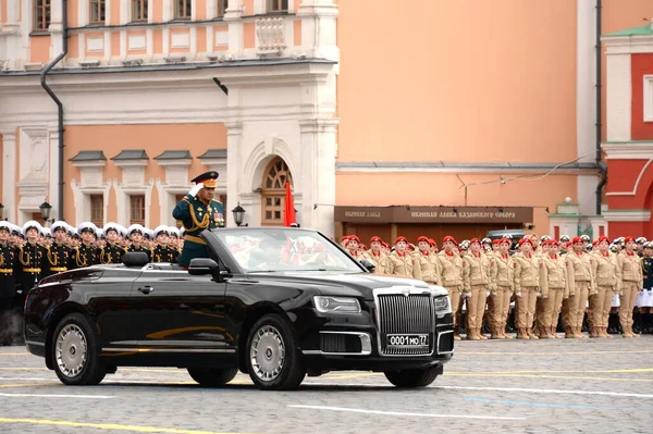
[(254, 374), (263, 382), (276, 379), (285, 362), (285, 344), (279, 330), (272, 325), (260, 327), (249, 348), (249, 359)]

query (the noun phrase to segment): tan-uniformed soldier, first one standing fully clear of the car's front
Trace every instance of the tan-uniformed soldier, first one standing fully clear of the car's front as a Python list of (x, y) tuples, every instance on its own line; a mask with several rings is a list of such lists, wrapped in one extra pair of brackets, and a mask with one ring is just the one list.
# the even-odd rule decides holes
[(490, 260), (481, 252), (481, 240), (472, 238), (463, 257), (463, 296), (467, 299), (467, 339), (486, 339), (481, 333), (489, 287)]

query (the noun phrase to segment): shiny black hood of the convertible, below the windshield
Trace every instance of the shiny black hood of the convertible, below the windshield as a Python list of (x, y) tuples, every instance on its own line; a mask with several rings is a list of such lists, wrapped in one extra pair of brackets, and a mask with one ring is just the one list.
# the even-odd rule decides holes
[(448, 294), (442, 286), (428, 285), (423, 281), (402, 278), (377, 274), (338, 274), (338, 273), (295, 273), (283, 272), (267, 275), (256, 275), (259, 282), (269, 284), (296, 285), (315, 288), (322, 295), (364, 297), (373, 300), (373, 290), (392, 287), (415, 287), (430, 289), (434, 295)]

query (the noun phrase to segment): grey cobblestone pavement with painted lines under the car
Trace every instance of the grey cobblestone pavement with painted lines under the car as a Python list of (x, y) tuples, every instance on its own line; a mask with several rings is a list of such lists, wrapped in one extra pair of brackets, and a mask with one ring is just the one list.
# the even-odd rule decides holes
[(66, 387), (23, 347), (0, 347), (2, 433), (650, 433), (653, 336), (457, 343), (432, 386), (336, 372), (296, 392), (227, 388), (177, 369), (119, 369)]

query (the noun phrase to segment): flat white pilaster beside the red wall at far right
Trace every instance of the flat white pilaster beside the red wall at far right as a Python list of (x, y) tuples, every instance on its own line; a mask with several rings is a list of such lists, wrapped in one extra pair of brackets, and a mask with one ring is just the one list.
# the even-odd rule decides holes
[[(609, 48), (608, 48), (609, 50)], [(630, 135), (632, 77), (630, 53), (607, 53), (606, 124), (607, 141), (628, 141)]]

